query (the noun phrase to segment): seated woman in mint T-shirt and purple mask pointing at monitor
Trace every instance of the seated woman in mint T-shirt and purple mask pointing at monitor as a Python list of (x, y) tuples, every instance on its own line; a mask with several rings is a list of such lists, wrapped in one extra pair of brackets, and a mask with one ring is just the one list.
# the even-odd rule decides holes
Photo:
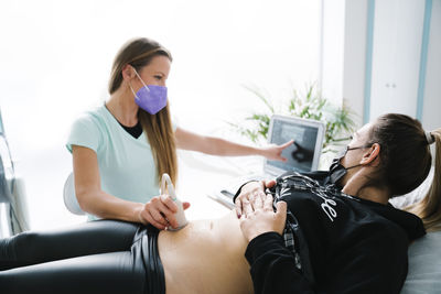
[(173, 124), (165, 87), (171, 62), (169, 51), (152, 40), (128, 42), (114, 62), (109, 99), (74, 122), (67, 149), (73, 155), (76, 197), (89, 219), (175, 228), (175, 203), (158, 194), (163, 173), (176, 182), (178, 148), (284, 161), (281, 152), (292, 142), (251, 148)]

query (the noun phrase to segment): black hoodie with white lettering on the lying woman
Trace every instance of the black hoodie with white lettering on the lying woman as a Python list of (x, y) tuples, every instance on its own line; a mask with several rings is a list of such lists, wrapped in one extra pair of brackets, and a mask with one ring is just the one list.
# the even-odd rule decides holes
[(299, 248), (299, 236), (295, 240), (303, 266), (298, 269), (295, 254), (279, 233), (252, 239), (246, 258), (255, 293), (400, 292), (408, 244), (426, 233), (420, 218), (345, 195), (327, 185), (325, 172), (287, 173), (272, 192), (276, 202), (287, 202), (301, 229), (300, 243), (305, 246)]

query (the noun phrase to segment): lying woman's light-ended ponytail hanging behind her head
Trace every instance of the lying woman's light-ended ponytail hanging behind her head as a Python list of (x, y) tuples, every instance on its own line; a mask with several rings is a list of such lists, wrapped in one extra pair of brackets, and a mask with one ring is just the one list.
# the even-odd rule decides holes
[(426, 197), (407, 208), (422, 219), (428, 232), (441, 230), (441, 129), (430, 132), (428, 143), (430, 135), (435, 144), (433, 181)]

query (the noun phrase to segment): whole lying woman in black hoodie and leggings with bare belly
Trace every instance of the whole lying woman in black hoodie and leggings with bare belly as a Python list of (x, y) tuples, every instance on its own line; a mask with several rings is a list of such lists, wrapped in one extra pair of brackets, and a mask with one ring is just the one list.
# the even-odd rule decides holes
[[(394, 208), (390, 197), (427, 177), (430, 144), (428, 195), (415, 214)], [(99, 220), (0, 240), (1, 293), (399, 293), (408, 243), (441, 230), (441, 129), (386, 115), (346, 151), (336, 182), (333, 167), (283, 174), (268, 190), (245, 184), (239, 218), (179, 231)]]

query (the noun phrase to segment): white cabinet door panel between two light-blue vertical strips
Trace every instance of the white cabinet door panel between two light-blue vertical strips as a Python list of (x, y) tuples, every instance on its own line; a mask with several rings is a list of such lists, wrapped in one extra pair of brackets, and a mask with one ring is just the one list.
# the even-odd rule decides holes
[(375, 1), (370, 116), (416, 117), (424, 1)]

